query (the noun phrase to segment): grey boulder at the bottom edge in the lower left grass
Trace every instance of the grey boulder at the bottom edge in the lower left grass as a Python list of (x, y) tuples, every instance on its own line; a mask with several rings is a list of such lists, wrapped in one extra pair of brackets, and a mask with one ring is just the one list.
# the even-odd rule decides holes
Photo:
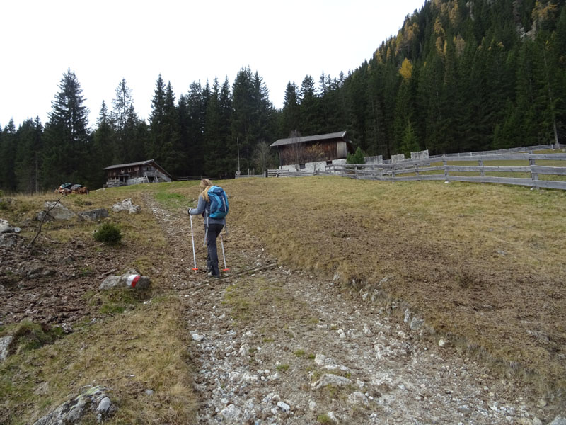
[(33, 425), (80, 424), (83, 416), (93, 412), (101, 422), (113, 414), (117, 407), (108, 396), (106, 387), (87, 387), (81, 395), (61, 404)]

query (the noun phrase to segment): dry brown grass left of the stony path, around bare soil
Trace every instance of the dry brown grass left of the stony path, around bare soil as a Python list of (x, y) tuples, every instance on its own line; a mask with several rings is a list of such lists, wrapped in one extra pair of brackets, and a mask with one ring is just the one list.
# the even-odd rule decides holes
[[(148, 193), (166, 189), (168, 186), (154, 185), (96, 191), (89, 196), (64, 197), (62, 203), (74, 212), (110, 208), (125, 198), (143, 205)], [(51, 194), (13, 197), (0, 217), (22, 227), (23, 237), (31, 238), (38, 225), (33, 217), (46, 200), (56, 199)], [(163, 232), (151, 210), (142, 209), (136, 215), (110, 212), (106, 220), (122, 229), (120, 246), (94, 242), (96, 223), (73, 219), (44, 225), (36, 242), (37, 257), (47, 250), (56, 266), (59, 255), (70, 252), (75, 261), (88, 262), (88, 268), (84, 268), (88, 276), (84, 278), (73, 277), (76, 273), (71, 272), (71, 268), (80, 266), (64, 264), (67, 279), (73, 280), (67, 286), (84, 283), (91, 288), (83, 295), (83, 304), (85, 314), (98, 308), (94, 313), (98, 323), (88, 325), (91, 317), (86, 317), (73, 324), (72, 334), (55, 344), (18, 353), (0, 364), (0, 422), (33, 423), (78, 394), (81, 386), (96, 384), (109, 387), (112, 399), (120, 406), (108, 424), (195, 423), (197, 397), (187, 358), (190, 341), (186, 339), (184, 311), (177, 297), (163, 297), (167, 293), (164, 283), (172, 272), (167, 266), (170, 259), (163, 254)], [(100, 261), (110, 258), (111, 265)], [(151, 302), (141, 304), (144, 297), (132, 300), (125, 290), (97, 292), (100, 280), (96, 276), (100, 276), (101, 266), (105, 267), (103, 271), (111, 266), (109, 272), (113, 274), (133, 267), (151, 276), (152, 288), (146, 292), (146, 299), (153, 297)], [(2, 331), (0, 327), (0, 334)], [(154, 394), (146, 395), (145, 390)]]

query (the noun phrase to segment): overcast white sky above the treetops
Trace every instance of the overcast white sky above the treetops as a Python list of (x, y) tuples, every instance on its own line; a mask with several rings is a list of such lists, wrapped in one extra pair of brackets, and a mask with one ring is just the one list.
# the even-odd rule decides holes
[(277, 108), (288, 81), (368, 60), (424, 0), (8, 0), (0, 13), (0, 125), (42, 123), (67, 69), (94, 125), (122, 80), (147, 118), (158, 74), (178, 100), (192, 81), (258, 71)]

